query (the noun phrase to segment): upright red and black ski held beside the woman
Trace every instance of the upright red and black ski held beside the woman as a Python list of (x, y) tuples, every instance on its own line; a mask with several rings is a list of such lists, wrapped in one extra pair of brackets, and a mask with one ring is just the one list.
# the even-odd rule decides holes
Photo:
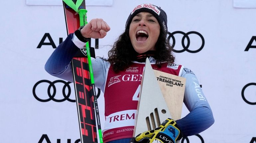
[[(72, 0), (76, 3), (76, 0)], [(67, 35), (74, 33), (80, 27), (79, 15), (64, 1), (64, 15)], [(85, 1), (79, 8), (85, 9)], [(94, 49), (90, 48), (91, 57), (95, 58)], [(89, 61), (86, 50), (83, 49), (72, 59), (72, 72), (75, 87), (76, 106), (79, 120), (81, 143), (97, 143), (97, 128), (94, 108), (93, 88), (89, 72)], [(96, 99), (97, 100), (97, 99)]]

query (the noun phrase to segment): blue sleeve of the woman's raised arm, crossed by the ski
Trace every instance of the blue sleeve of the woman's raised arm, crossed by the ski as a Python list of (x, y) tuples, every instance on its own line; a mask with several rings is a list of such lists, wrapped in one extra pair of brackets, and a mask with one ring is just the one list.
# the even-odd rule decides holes
[[(71, 60), (74, 55), (85, 45), (75, 34), (69, 34), (49, 57), (45, 64), (45, 70), (58, 78), (73, 82)], [(101, 58), (91, 58), (95, 86), (104, 90), (106, 69), (109, 62)]]

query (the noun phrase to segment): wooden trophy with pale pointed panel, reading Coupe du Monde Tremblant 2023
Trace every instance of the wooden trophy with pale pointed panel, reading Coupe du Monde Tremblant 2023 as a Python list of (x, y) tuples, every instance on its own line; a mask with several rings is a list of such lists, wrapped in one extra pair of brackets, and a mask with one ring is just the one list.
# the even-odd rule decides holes
[(146, 59), (133, 136), (159, 127), (167, 118), (181, 119), (186, 79), (153, 70)]

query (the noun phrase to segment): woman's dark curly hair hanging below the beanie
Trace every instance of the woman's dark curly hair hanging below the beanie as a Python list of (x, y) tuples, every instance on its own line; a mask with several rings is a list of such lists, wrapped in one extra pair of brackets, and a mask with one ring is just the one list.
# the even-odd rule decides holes
[[(156, 43), (155, 52), (156, 63), (159, 67), (161, 67), (161, 62), (173, 63), (175, 60), (172, 54), (172, 47), (167, 40), (167, 32), (162, 28)], [(109, 58), (103, 60), (110, 62), (114, 72), (117, 73), (127, 68), (131, 61), (136, 60), (137, 54), (129, 37), (129, 28), (126, 28), (108, 52)]]

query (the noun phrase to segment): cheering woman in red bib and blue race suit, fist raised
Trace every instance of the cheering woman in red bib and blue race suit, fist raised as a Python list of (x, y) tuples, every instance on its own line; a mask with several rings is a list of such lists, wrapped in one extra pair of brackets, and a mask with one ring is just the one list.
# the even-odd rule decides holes
[[(109, 30), (110, 27), (103, 19), (92, 19), (87, 25), (68, 35), (58, 46), (45, 65), (46, 71), (72, 82), (70, 61), (74, 54), (79, 48), (83, 48), (90, 38), (104, 38)], [(128, 128), (134, 127), (135, 119), (132, 115), (136, 113), (138, 104), (138, 101), (133, 100), (132, 97), (141, 83), (139, 77), (142, 75), (147, 57), (154, 69), (186, 78), (184, 103), (190, 113), (177, 121), (167, 120), (168, 127), (174, 127), (175, 132), (178, 132), (173, 135), (167, 134), (167, 138), (175, 142), (181, 137), (200, 133), (214, 123), (210, 106), (201, 88), (198, 87), (199, 83), (194, 73), (182, 65), (172, 66), (175, 58), (167, 41), (167, 30), (167, 15), (160, 7), (151, 4), (139, 5), (129, 15), (125, 31), (109, 51), (109, 58), (92, 59), (95, 86), (104, 91), (106, 118), (103, 130), (104, 142), (130, 142), (133, 131)], [(132, 68), (136, 69), (136, 72), (130, 72), (129, 69)], [(127, 75), (137, 78), (134, 80)], [(124, 101), (126, 106), (123, 106)], [(130, 118), (115, 119), (121, 114), (126, 114)], [(166, 129), (164, 126), (161, 129)], [(126, 131), (118, 132), (121, 129)], [(161, 140), (157, 136), (161, 134), (157, 128), (140, 134), (132, 142), (147, 142), (152, 134), (155, 135), (154, 139)], [(150, 142), (152, 141), (151, 139)], [(161, 141), (167, 142), (167, 140)]]

